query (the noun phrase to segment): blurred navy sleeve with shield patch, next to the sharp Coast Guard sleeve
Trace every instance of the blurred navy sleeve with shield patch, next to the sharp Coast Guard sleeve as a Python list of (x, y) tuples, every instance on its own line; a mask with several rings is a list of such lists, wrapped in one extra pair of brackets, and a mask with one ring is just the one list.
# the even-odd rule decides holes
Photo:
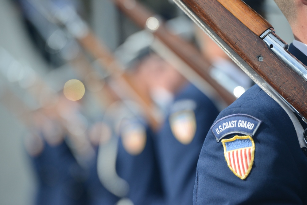
[[(179, 111), (180, 114), (174, 114), (178, 116), (177, 119), (171, 119), (171, 116), (165, 122), (157, 138), (159, 162), (168, 204), (193, 203), (197, 159), (204, 137), (218, 115), (217, 109), (211, 102), (197, 102), (197, 104), (196, 110), (189, 111), (191, 115), (195, 115), (194, 121), (188, 117), (189, 114), (181, 114)], [(181, 124), (180, 118), (184, 118), (185, 123)], [(196, 124), (195, 132), (193, 132), (193, 123)], [(186, 139), (184, 135), (191, 141), (182, 140)]]

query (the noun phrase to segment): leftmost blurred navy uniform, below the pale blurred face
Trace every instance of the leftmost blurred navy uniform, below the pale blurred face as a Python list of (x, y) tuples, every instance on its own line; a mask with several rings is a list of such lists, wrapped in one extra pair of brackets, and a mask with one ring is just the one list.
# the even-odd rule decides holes
[(87, 204), (87, 172), (64, 141), (58, 145), (44, 142), (44, 149), (32, 161), (38, 177), (35, 204)]

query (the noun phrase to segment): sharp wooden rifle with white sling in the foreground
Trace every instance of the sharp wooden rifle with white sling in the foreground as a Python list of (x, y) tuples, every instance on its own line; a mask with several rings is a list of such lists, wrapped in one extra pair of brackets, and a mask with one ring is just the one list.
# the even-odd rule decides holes
[(268, 95), (307, 123), (307, 67), (270, 23), (242, 1), (173, 1)]

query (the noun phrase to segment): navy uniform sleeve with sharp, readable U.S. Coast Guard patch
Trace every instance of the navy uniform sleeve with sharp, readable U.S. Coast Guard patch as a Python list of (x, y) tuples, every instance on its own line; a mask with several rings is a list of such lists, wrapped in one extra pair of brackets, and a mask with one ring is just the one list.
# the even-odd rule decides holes
[[(294, 41), (294, 43), (297, 43)], [(289, 51), (307, 65), (307, 46)], [(307, 126), (254, 85), (223, 110), (197, 164), (194, 204), (307, 204)], [(300, 134), (299, 134), (300, 133)], [(302, 150), (301, 150), (302, 148)]]

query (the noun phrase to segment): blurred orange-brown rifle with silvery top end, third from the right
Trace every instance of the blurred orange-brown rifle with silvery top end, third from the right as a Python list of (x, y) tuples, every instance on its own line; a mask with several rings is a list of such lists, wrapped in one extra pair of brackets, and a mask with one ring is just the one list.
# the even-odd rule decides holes
[(98, 60), (101, 67), (107, 68), (111, 77), (120, 86), (121, 93), (117, 92), (117, 94), (120, 97), (124, 94), (135, 100), (141, 105), (150, 126), (153, 129), (159, 127), (161, 116), (157, 112), (150, 94), (138, 87), (133, 82), (133, 78), (124, 72), (122, 65), (119, 65), (112, 53), (95, 36), (73, 7), (64, 6), (59, 8), (52, 4), (51, 1), (45, 2), (46, 5), (39, 4), (34, 0), (28, 1), (42, 14), (48, 16), (49, 21), (65, 26), (68, 32), (79, 41), (80, 45)]

